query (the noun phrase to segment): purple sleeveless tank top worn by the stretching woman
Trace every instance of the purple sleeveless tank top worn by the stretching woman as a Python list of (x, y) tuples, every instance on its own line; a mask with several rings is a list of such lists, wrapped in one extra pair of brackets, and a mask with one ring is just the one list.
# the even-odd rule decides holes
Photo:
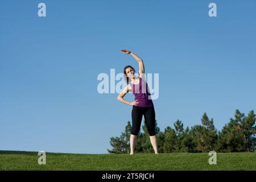
[[(131, 84), (131, 83), (130, 83)], [(135, 96), (135, 100), (139, 101), (138, 107), (151, 107), (153, 102), (151, 94), (148, 92), (148, 85), (141, 77), (139, 77), (139, 84), (131, 84), (131, 91)]]

